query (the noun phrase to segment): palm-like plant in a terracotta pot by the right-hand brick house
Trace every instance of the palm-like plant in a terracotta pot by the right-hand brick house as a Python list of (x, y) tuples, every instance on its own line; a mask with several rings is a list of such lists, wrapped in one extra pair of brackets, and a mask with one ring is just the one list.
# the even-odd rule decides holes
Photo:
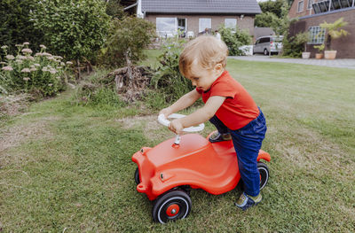
[(335, 59), (336, 50), (332, 50), (331, 43), (332, 40), (338, 39), (344, 35), (348, 35), (348, 32), (341, 29), (348, 25), (348, 22), (343, 21), (343, 18), (337, 19), (334, 23), (324, 23), (320, 24), (321, 28), (326, 29), (326, 36), (324, 44), (326, 46), (326, 50), (324, 51), (324, 58), (326, 59)]

